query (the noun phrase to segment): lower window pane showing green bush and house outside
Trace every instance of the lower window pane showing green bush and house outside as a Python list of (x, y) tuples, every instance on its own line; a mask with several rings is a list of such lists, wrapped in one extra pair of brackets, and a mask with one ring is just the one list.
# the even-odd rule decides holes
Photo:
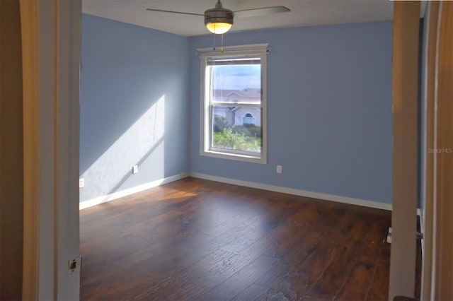
[(212, 148), (260, 153), (260, 107), (212, 106)]

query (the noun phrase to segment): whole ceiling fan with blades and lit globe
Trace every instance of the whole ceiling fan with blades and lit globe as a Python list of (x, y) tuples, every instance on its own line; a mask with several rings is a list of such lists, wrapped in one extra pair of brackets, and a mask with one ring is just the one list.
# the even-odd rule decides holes
[(263, 8), (244, 9), (242, 11), (231, 11), (222, 6), (222, 2), (217, 0), (214, 8), (207, 9), (204, 14), (185, 13), (182, 11), (165, 11), (163, 9), (147, 8), (147, 11), (160, 11), (164, 13), (181, 13), (184, 15), (204, 16), (207, 30), (216, 35), (223, 35), (230, 30), (233, 25), (233, 18), (247, 18), (254, 16), (266, 16), (272, 13), (285, 13), (290, 11), (285, 6), (270, 6)]

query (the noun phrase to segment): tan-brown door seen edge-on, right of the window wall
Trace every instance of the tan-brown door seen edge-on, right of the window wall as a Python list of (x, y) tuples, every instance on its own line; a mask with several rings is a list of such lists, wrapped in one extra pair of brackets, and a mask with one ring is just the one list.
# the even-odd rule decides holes
[(418, 200), (420, 2), (395, 1), (392, 59), (392, 213), (389, 300), (414, 297)]

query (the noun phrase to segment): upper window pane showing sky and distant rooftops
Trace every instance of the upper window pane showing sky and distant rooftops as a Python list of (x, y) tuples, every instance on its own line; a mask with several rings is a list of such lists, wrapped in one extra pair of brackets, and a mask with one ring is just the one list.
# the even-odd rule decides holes
[[(212, 65), (212, 102), (260, 104), (261, 65)], [(214, 62), (215, 63), (215, 62)]]

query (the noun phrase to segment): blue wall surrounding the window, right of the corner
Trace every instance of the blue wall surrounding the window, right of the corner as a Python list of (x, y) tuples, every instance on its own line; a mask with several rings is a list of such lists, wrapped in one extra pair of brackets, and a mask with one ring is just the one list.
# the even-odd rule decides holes
[[(391, 203), (391, 22), (225, 35), (270, 43), (268, 164), (200, 156), (200, 59), (190, 39), (190, 171)], [(282, 175), (275, 172), (283, 166)]]

